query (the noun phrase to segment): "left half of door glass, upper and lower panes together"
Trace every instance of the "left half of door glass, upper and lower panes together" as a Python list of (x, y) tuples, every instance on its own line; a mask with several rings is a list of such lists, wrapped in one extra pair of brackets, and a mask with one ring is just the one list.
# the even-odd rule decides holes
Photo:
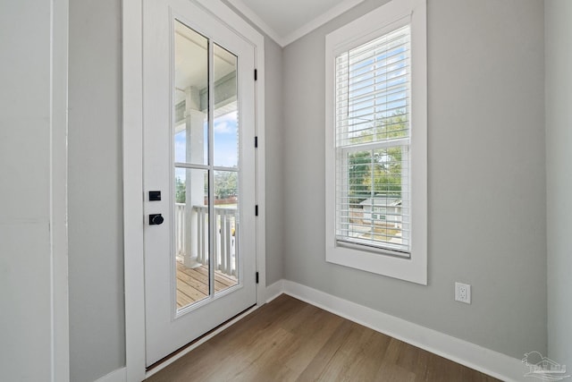
[[(177, 309), (210, 296), (208, 39), (174, 22), (174, 250)], [(193, 168), (199, 166), (202, 168)]]

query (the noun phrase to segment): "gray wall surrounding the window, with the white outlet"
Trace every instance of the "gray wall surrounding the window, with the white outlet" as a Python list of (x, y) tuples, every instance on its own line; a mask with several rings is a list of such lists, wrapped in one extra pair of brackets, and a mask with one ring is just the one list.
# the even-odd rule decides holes
[(546, 352), (542, 0), (428, 2), (429, 285), (324, 261), (324, 36), (383, 3), (283, 50), (284, 277), (509, 356)]

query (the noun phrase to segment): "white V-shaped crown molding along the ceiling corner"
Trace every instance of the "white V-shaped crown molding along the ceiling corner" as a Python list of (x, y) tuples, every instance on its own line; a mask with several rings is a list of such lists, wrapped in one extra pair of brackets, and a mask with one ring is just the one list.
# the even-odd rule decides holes
[(328, 21), (332, 21), (336, 17), (340, 16), (341, 13), (347, 12), (349, 9), (353, 8), (357, 4), (362, 3), (364, 0), (344, 0), (340, 4), (335, 5), (331, 9), (327, 10), (315, 17), (315, 19), (308, 21), (306, 24), (302, 25), (296, 30), (292, 30), (286, 36), (282, 36), (276, 30), (274, 30), (270, 25), (268, 25), (258, 14), (250, 9), (247, 4), (244, 4), (242, 0), (228, 0), (232, 6), (234, 6), (240, 13), (244, 14), (248, 20), (252, 21), (258, 28), (265, 32), (270, 38), (272, 38), (281, 47), (286, 47), (292, 42), (299, 38), (306, 36), (312, 30), (316, 30)]

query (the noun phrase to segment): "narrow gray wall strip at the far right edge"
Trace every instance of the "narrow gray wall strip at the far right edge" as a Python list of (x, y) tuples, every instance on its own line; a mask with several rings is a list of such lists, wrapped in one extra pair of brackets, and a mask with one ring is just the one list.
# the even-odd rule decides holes
[(572, 366), (572, 2), (545, 3), (548, 353)]

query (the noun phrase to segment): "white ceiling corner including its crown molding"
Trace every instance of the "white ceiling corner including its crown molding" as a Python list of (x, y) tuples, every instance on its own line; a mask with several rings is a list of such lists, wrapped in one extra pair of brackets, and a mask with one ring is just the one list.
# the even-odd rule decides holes
[(282, 47), (362, 1), (364, 0), (227, 0)]

